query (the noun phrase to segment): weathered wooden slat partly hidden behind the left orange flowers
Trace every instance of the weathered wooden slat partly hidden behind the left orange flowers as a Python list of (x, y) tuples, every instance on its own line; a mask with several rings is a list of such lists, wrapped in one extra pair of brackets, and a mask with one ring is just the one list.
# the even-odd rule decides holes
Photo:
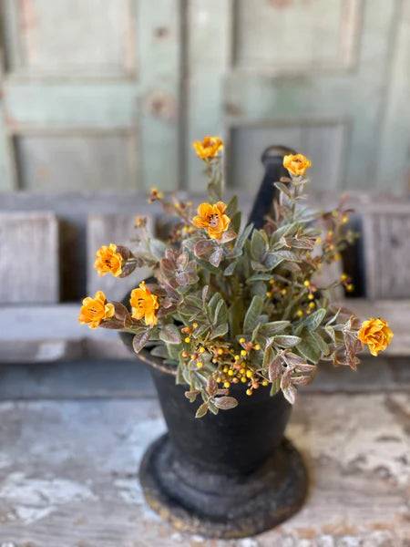
[[(87, 222), (87, 294), (94, 295), (104, 291), (109, 300), (121, 301), (124, 296), (138, 286), (138, 283), (149, 276), (148, 268), (140, 268), (124, 279), (117, 279), (111, 274), (100, 276), (94, 268), (97, 249), (101, 245), (117, 243), (126, 245), (131, 250), (132, 237), (135, 232), (135, 215), (93, 214)], [(152, 219), (149, 218), (148, 229), (152, 232)]]

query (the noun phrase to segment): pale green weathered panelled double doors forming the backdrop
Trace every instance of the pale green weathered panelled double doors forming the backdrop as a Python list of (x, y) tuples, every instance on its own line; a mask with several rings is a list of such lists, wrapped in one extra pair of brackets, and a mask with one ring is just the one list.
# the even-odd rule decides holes
[(269, 144), (318, 190), (410, 185), (408, 0), (2, 0), (1, 20), (2, 191), (201, 191), (205, 134), (245, 191)]

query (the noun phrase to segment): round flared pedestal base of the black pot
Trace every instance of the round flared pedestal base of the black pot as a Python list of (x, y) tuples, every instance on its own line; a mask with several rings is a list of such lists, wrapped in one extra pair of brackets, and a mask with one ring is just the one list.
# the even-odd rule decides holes
[(149, 506), (180, 531), (241, 538), (269, 530), (298, 511), (306, 496), (302, 457), (287, 439), (246, 476), (220, 475), (182, 461), (168, 434), (144, 455), (139, 480)]

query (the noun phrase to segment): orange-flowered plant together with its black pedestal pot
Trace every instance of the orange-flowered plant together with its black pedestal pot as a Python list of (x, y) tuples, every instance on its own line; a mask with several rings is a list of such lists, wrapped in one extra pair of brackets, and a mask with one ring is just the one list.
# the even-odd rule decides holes
[[(149, 266), (153, 277), (124, 303), (97, 292), (78, 317), (91, 328), (118, 329), (149, 364), (169, 431), (140, 467), (146, 500), (180, 530), (211, 537), (262, 532), (297, 511), (305, 497), (302, 458), (283, 438), (297, 387), (319, 360), (356, 369), (364, 345), (373, 355), (393, 336), (380, 318), (360, 321), (320, 284), (354, 234), (343, 204), (333, 212), (302, 206), (310, 161), (289, 154), (289, 177), (275, 182), (272, 216), (242, 226), (236, 197), (222, 201), (214, 137), (194, 143), (209, 178), (209, 201), (166, 201), (167, 241), (138, 218), (135, 248), (97, 251), (99, 274), (124, 277)], [(323, 235), (324, 231), (324, 235)]]

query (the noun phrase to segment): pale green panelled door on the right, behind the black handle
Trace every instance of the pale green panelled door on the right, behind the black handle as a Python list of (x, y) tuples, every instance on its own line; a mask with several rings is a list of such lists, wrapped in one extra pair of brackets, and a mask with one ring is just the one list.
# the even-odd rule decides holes
[(315, 189), (404, 189), (410, 2), (191, 2), (188, 28), (188, 140), (223, 130), (230, 186), (254, 191), (282, 144), (312, 158)]

